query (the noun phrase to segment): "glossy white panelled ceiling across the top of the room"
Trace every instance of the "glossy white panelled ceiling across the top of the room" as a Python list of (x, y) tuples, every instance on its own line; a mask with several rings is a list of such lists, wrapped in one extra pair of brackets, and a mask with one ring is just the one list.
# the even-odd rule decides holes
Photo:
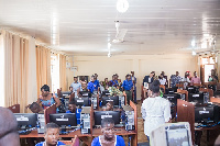
[(191, 53), (185, 48), (204, 34), (217, 35), (220, 47), (220, 0), (128, 1), (119, 13), (117, 0), (0, 0), (0, 29), (74, 55), (107, 55), (116, 20), (128, 33), (113, 55)]

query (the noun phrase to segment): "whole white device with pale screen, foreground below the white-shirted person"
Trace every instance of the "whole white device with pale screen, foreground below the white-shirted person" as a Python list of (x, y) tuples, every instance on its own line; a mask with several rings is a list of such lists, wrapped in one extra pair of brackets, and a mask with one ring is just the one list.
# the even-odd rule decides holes
[(193, 146), (189, 123), (166, 123), (150, 135), (152, 146)]

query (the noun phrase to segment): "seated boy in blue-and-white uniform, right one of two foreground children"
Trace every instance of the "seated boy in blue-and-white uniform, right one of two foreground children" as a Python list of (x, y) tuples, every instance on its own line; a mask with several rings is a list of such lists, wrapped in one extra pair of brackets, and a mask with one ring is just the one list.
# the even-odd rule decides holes
[(125, 146), (124, 139), (114, 135), (114, 121), (112, 119), (103, 119), (101, 121), (101, 132), (102, 135), (96, 137), (91, 146)]

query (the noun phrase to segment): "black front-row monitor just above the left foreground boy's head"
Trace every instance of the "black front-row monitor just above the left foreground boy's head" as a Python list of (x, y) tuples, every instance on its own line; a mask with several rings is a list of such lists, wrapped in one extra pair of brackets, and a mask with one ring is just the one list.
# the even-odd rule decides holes
[(55, 113), (50, 114), (50, 122), (56, 123), (59, 126), (76, 126), (76, 114), (75, 113)]

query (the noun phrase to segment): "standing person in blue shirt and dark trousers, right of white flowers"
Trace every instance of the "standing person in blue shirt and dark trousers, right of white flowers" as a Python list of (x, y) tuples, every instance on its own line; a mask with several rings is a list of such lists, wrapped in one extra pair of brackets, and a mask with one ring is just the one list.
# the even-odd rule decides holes
[(130, 100), (132, 100), (132, 89), (133, 82), (131, 80), (131, 75), (127, 75), (127, 79), (122, 83), (122, 90), (125, 91), (128, 104), (130, 104)]

